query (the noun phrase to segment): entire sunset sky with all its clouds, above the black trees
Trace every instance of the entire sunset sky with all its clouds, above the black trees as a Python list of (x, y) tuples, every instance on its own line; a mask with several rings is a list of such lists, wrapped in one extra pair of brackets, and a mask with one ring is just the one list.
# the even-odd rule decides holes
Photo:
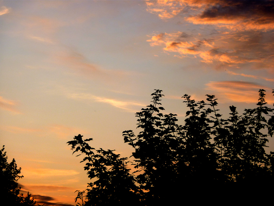
[(122, 132), (154, 89), (179, 124), (184, 94), (215, 95), (224, 117), (255, 108), (259, 89), (273, 106), (273, 10), (270, 0), (0, 1), (0, 144), (22, 191), (73, 205), (90, 179), (66, 142), (81, 134), (129, 157)]

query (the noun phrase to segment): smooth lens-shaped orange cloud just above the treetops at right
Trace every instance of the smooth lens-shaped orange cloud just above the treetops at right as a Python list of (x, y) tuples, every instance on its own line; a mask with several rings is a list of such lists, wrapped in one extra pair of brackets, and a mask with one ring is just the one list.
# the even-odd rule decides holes
[(272, 104), (274, 102), (271, 89), (265, 86), (254, 84), (251, 82), (237, 82), (237, 81), (221, 81), (209, 82), (206, 84), (207, 90), (217, 92), (216, 96), (221, 96), (233, 102), (257, 103), (258, 91), (264, 89), (266, 93), (266, 102)]

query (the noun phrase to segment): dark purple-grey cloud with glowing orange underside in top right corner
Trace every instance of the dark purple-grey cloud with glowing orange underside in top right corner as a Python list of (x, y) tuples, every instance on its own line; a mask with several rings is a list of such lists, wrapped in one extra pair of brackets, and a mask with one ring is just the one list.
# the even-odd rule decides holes
[(187, 21), (194, 24), (215, 24), (242, 31), (274, 29), (272, 0), (205, 0), (200, 6), (200, 12), (186, 17)]

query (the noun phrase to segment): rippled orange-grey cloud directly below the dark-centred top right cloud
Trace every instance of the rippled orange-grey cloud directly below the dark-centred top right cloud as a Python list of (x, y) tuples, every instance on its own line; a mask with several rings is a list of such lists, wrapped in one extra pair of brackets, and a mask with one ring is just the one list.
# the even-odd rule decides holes
[[(184, 32), (160, 33), (150, 36), (151, 46), (162, 46), (165, 52), (175, 52), (179, 58), (201, 58), (201, 62), (223, 66), (252, 63), (256, 68), (273, 68), (274, 40), (271, 33), (222, 32), (213, 38)], [(261, 39), (265, 39), (262, 41)]]

